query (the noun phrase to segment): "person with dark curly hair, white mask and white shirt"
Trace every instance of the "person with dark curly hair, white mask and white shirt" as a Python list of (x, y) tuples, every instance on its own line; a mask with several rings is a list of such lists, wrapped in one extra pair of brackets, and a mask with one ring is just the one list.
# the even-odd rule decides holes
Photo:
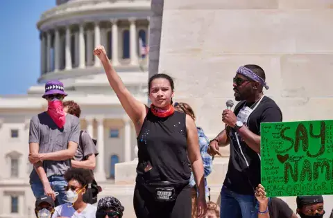
[(96, 206), (83, 201), (83, 194), (87, 191), (87, 185), (92, 183), (92, 173), (90, 170), (82, 168), (70, 168), (65, 172), (66, 191), (65, 200), (67, 203), (55, 208), (52, 218), (56, 217), (82, 217), (95, 218)]

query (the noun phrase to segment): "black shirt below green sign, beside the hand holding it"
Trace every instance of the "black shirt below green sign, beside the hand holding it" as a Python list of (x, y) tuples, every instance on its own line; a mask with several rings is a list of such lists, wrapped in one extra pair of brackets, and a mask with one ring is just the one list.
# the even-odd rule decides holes
[(272, 197), (268, 203), (268, 212), (270, 218), (291, 218), (293, 210), (282, 199)]

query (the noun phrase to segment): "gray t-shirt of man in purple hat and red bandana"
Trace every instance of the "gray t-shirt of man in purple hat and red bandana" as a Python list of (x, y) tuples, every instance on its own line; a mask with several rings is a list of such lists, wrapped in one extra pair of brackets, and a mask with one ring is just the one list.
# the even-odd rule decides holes
[[(39, 153), (58, 152), (67, 149), (69, 141), (78, 143), (80, 120), (71, 114), (66, 115), (65, 126), (60, 129), (46, 112), (33, 116), (30, 122), (29, 143), (40, 145)], [(46, 176), (62, 176), (71, 167), (71, 160), (43, 161)], [(30, 174), (30, 182), (39, 182), (35, 169)]]

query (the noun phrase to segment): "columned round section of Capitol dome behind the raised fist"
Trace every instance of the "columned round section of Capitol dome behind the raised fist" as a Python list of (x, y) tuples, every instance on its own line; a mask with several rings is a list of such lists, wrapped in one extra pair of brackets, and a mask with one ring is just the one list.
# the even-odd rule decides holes
[(102, 44), (118, 71), (146, 69), (150, 0), (57, 0), (42, 14), (39, 82), (101, 73)]

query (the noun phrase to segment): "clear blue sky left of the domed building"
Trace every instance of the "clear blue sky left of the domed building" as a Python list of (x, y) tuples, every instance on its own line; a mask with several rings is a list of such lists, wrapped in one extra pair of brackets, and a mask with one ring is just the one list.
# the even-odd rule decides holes
[(24, 94), (40, 75), (40, 15), (56, 0), (0, 0), (0, 95)]

